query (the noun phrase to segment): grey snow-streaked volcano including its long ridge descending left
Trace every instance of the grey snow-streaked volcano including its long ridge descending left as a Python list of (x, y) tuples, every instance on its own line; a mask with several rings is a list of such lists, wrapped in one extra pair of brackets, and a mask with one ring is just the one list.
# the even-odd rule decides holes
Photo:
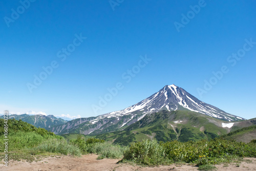
[[(84, 135), (122, 131), (133, 123), (138, 124), (145, 116), (151, 117), (153, 113), (161, 111), (165, 111), (168, 114), (173, 114), (172, 111), (184, 111), (190, 114), (192, 112), (193, 115), (200, 117), (208, 116), (218, 120), (217, 126), (222, 127), (222, 129), (223, 127), (225, 129), (227, 127), (229, 130), (234, 125), (233, 122), (245, 120), (244, 118), (231, 115), (215, 106), (200, 101), (184, 89), (173, 84), (165, 86), (159, 92), (124, 110), (97, 117), (74, 119), (61, 125), (51, 126), (49, 130), (55, 134), (76, 133)], [(183, 114), (185, 115), (185, 113)], [(183, 122), (179, 121), (182, 120), (176, 120), (177, 123), (182, 125)], [(211, 122), (217, 123), (215, 120)]]

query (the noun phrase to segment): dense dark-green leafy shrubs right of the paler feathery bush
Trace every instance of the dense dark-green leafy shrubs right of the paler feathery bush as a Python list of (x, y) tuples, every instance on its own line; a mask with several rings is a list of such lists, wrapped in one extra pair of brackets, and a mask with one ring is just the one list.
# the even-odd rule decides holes
[(197, 165), (216, 164), (224, 160), (231, 160), (234, 157), (253, 157), (256, 155), (255, 145), (224, 139), (198, 142), (170, 141), (163, 143), (162, 146), (170, 161), (183, 161)]

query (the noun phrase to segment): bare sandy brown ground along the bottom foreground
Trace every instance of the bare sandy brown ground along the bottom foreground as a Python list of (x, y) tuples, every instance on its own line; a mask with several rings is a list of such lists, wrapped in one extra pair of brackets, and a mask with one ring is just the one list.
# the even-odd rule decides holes
[[(117, 164), (118, 159), (102, 159), (97, 160), (97, 155), (83, 155), (81, 158), (72, 156), (49, 157), (38, 162), (10, 161), (8, 167), (0, 164), (0, 170), (20, 170), (20, 171), (67, 171), (67, 170), (197, 170), (198, 167), (191, 165), (169, 165), (158, 167), (141, 167), (131, 164)], [(228, 166), (216, 165), (218, 170), (256, 170), (256, 158), (245, 158), (239, 164), (228, 164)], [(2, 162), (3, 163), (3, 162)]]

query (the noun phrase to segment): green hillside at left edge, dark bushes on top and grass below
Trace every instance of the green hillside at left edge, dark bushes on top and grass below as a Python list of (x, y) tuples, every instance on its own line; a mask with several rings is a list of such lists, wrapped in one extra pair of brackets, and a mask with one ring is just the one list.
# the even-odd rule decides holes
[(79, 148), (63, 137), (22, 120), (9, 119), (7, 122), (0, 119), (0, 136), (2, 159), (6, 154), (9, 159), (27, 161), (51, 155), (81, 155)]

